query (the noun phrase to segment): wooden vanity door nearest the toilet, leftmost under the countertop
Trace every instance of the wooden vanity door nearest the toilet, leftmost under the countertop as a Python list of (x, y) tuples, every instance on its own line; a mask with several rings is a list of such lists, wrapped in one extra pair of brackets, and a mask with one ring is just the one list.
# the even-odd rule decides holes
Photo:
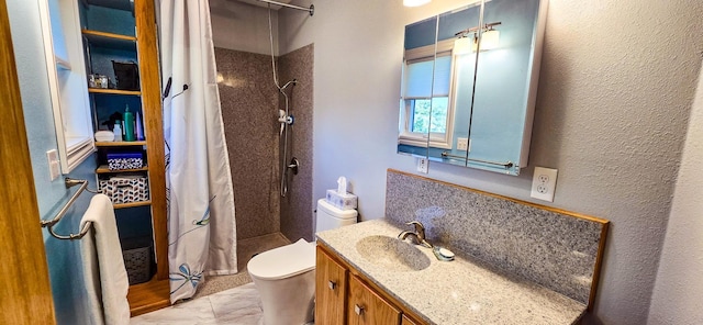
[(315, 323), (344, 324), (347, 269), (317, 247), (315, 268)]

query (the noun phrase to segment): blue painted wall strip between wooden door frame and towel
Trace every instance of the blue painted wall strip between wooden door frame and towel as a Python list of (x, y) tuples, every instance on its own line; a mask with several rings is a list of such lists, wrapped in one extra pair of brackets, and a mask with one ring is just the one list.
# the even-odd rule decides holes
[[(40, 24), (37, 1), (8, 0), (8, 14), (12, 31), (24, 121), (32, 158), (34, 186), (38, 201), (40, 218), (49, 218), (68, 201), (75, 189), (66, 190), (63, 178), (49, 180), (46, 152), (57, 148), (56, 131), (52, 111), (47, 69), (44, 60), (44, 44)], [(87, 159), (71, 178), (91, 180), (94, 186), (94, 159)], [(64, 221), (56, 227), (58, 233), (76, 232), (90, 194), (79, 198)], [(88, 324), (86, 315), (86, 288), (81, 282), (79, 242), (55, 239), (44, 231), (46, 258), (49, 268), (52, 292), (58, 324)]]

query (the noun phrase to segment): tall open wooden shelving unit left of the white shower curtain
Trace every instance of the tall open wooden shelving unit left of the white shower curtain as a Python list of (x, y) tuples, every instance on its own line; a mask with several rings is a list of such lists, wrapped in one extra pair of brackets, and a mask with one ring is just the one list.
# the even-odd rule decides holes
[[(97, 175), (141, 172), (146, 175), (148, 178), (149, 201), (113, 205), (114, 209), (150, 206), (150, 221), (154, 234), (153, 242), (156, 257), (156, 274), (148, 282), (130, 287), (127, 300), (130, 301), (132, 315), (135, 316), (170, 305), (168, 235), (166, 224), (166, 161), (161, 122), (161, 89), (156, 31), (156, 8), (152, 0), (134, 0), (133, 3), (130, 3), (130, 0), (124, 0), (124, 3), (120, 1), (112, 1), (110, 2), (109, 8), (108, 4), (104, 4), (104, 1), (86, 0), (85, 2), (91, 5), (104, 5), (102, 8), (103, 10), (118, 10), (120, 11), (118, 14), (131, 11), (132, 14), (127, 13), (125, 18), (134, 19), (135, 35), (138, 35), (135, 37), (94, 30), (98, 27), (100, 30), (105, 29), (108, 31), (121, 31), (120, 33), (131, 33), (131, 26), (126, 26), (127, 29), (122, 29), (123, 26), (112, 29), (111, 26), (94, 25), (89, 26), (89, 29), (81, 30), (85, 42), (88, 42), (90, 46), (99, 47), (99, 51), (103, 51), (103, 53), (134, 54), (134, 57), (130, 57), (129, 60), (138, 63), (140, 90), (103, 88), (88, 89), (93, 103), (102, 101), (105, 105), (109, 105), (113, 101), (133, 101), (135, 100), (135, 97), (138, 97), (141, 102), (138, 111), (136, 107), (131, 104), (131, 102), (129, 103), (131, 111), (140, 112), (141, 114), (146, 141), (96, 143), (96, 147), (103, 152), (129, 152), (129, 147), (134, 147), (137, 150), (144, 152), (145, 160), (148, 161), (148, 166), (133, 170), (109, 170), (107, 166), (100, 166), (96, 169)], [(90, 53), (92, 55), (93, 52), (91, 51)], [(105, 68), (110, 67), (110, 60), (122, 59), (108, 57), (96, 65), (96, 67), (99, 67), (102, 70), (96, 69), (90, 72), (100, 74), (104, 71)], [(105, 114), (110, 114), (110, 110), (105, 110), (103, 112), (107, 112)], [(114, 112), (114, 110), (112, 112)], [(105, 117), (102, 116), (100, 121), (97, 119), (96, 123), (102, 123), (104, 121)], [(101, 161), (100, 164), (105, 162)]]

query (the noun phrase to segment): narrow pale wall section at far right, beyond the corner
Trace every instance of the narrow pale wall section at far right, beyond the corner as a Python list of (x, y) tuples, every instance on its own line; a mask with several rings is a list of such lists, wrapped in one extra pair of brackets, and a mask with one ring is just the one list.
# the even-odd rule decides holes
[(648, 324), (703, 324), (703, 75), (699, 77)]

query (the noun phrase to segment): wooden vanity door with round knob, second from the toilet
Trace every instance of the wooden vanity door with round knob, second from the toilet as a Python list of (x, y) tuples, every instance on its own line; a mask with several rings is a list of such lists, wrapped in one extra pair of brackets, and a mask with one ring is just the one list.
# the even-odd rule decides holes
[(352, 276), (349, 277), (349, 303), (347, 314), (347, 324), (392, 325), (400, 324), (401, 312), (357, 277)]

